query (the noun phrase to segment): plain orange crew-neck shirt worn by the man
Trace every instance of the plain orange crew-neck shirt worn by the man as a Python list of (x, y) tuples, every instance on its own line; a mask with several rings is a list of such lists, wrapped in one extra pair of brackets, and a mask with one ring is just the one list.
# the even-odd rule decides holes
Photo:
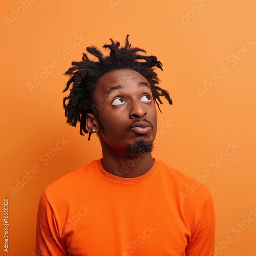
[(214, 238), (206, 186), (160, 160), (135, 178), (114, 176), (94, 160), (46, 187), (36, 255), (206, 256)]

